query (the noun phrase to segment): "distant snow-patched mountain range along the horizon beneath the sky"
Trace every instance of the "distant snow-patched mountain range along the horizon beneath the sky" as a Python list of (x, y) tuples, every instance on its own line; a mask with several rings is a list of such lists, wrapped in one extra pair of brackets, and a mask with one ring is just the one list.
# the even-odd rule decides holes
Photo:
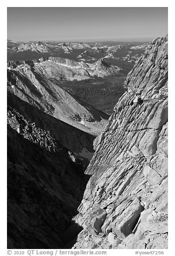
[[(93, 63), (100, 58), (135, 62), (144, 52), (148, 43), (139, 42), (14, 42), (8, 40), (8, 60), (33, 60), (41, 57), (59, 56)], [(122, 53), (122, 54), (121, 54)], [(124, 54), (124, 56), (123, 56)], [(128, 54), (130, 59), (125, 58)], [(138, 58), (132, 58), (135, 54)], [(123, 59), (124, 58), (124, 59)]]

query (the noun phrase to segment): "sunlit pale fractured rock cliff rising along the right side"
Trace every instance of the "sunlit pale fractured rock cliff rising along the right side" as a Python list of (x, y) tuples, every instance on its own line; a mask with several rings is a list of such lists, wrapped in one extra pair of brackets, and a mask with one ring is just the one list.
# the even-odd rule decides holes
[(94, 141), (73, 248), (167, 248), (167, 38), (145, 50)]

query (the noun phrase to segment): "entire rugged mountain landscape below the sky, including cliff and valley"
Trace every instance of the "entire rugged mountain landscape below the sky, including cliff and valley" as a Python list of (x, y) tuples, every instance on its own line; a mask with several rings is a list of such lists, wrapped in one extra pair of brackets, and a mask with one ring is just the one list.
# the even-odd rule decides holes
[(167, 248), (167, 43), (8, 40), (8, 248)]

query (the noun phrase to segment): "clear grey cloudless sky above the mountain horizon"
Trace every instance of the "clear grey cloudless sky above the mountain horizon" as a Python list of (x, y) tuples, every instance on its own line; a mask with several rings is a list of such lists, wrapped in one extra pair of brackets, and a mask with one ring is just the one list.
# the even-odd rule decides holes
[(117, 40), (167, 34), (165, 7), (8, 7), (8, 39)]

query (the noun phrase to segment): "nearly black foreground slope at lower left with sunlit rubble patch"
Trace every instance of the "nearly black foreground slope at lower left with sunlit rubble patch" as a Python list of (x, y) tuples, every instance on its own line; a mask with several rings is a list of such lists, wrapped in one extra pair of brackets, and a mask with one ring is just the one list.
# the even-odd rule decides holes
[(84, 170), (52, 132), (8, 106), (8, 248), (68, 243), (63, 233), (82, 200)]

